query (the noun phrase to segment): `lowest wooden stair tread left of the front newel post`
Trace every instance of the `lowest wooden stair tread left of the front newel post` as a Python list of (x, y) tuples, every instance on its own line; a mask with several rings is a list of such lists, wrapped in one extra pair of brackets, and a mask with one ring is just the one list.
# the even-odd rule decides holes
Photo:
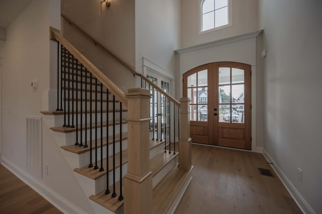
[[(111, 210), (112, 212), (116, 212), (124, 204), (124, 200), (118, 200), (120, 195), (120, 181), (115, 182), (115, 192), (117, 194), (116, 197), (111, 196), (113, 192), (113, 185), (109, 187), (109, 190), (111, 191), (109, 194), (105, 194), (104, 190), (96, 195), (91, 195), (90, 199)], [(124, 193), (124, 187), (122, 188), (122, 192)]]

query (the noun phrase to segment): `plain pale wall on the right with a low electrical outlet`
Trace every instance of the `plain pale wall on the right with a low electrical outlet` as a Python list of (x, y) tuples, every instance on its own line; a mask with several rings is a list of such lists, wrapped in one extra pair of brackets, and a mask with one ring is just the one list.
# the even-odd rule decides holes
[[(322, 213), (322, 2), (259, 2), (267, 49), (264, 102), (269, 105), (264, 148), (295, 187), (293, 193), (297, 190), (308, 206)], [(297, 168), (303, 182), (297, 179)]]

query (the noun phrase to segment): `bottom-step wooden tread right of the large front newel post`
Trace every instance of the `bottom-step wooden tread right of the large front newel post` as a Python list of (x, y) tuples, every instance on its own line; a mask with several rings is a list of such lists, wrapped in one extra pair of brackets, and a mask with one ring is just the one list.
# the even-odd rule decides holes
[(174, 167), (162, 181), (154, 187), (152, 193), (152, 210), (154, 214), (162, 214), (168, 211), (192, 170), (193, 166), (191, 166), (190, 170)]

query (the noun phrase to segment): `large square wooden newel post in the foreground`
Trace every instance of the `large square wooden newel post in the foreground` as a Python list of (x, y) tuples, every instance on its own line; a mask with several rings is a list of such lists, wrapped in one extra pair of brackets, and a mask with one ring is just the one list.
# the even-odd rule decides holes
[(151, 94), (132, 88), (127, 106), (127, 173), (124, 176), (124, 213), (152, 213), (152, 172), (149, 171), (149, 103)]

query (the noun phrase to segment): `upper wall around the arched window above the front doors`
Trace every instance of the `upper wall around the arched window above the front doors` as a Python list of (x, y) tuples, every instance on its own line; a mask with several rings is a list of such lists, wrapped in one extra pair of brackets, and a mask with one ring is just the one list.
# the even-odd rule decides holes
[(232, 26), (199, 34), (199, 1), (181, 1), (181, 48), (216, 41), (258, 29), (258, 0), (232, 1)]

